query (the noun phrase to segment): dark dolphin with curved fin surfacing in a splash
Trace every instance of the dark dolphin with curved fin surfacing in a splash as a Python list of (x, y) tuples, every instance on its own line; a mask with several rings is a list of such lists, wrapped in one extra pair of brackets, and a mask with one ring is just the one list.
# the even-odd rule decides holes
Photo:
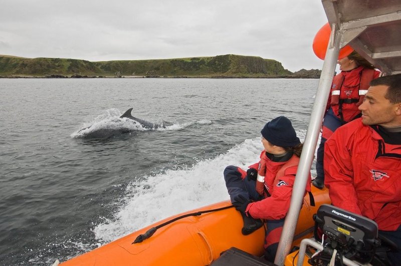
[(107, 138), (111, 137), (113, 135), (118, 135), (118, 134), (123, 134), (123, 133), (128, 133), (131, 132), (135, 129), (132, 127), (126, 126), (124, 124), (118, 125), (118, 123), (123, 123), (122, 118), (128, 118), (131, 120), (134, 120), (142, 125), (142, 127), (146, 129), (157, 129), (157, 128), (165, 128), (166, 126), (172, 125), (170, 122), (162, 121), (161, 123), (152, 123), (143, 119), (136, 118), (131, 115), (131, 111), (133, 108), (129, 108), (126, 112), (124, 112), (119, 118), (111, 120), (113, 123), (116, 124), (116, 126), (111, 126), (111, 127), (103, 127), (103, 128), (97, 128), (93, 130), (89, 130), (88, 132), (85, 132), (84, 130), (89, 129), (92, 127), (92, 125), (82, 128), (78, 131), (79, 138)]

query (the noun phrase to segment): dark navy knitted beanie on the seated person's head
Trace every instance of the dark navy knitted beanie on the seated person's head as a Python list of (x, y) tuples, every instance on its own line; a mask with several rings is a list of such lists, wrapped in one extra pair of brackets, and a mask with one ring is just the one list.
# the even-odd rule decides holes
[(261, 133), (267, 141), (276, 146), (294, 147), (301, 143), (290, 119), (285, 116), (279, 116), (267, 122)]

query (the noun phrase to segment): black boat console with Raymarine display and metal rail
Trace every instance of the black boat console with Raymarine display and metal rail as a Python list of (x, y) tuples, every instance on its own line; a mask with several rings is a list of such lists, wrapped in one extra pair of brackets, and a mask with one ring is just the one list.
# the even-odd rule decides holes
[(302, 265), (312, 246), (311, 265), (386, 265), (386, 252), (396, 246), (378, 235), (375, 221), (344, 209), (322, 204), (314, 215), (314, 239), (303, 239), (298, 253)]

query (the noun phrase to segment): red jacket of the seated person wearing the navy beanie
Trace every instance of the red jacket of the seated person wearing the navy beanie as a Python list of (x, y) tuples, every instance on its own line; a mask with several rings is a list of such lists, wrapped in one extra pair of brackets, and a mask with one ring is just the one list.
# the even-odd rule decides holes
[[(261, 160), (266, 161), (265, 187), (270, 196), (248, 204), (246, 211), (254, 218), (277, 220), (285, 217), (290, 207), (292, 187), (297, 173), (299, 157), (295, 154), (288, 161), (274, 162), (262, 151)], [(258, 169), (255, 163), (250, 168)], [(311, 176), (306, 185), (306, 191), (310, 191)]]

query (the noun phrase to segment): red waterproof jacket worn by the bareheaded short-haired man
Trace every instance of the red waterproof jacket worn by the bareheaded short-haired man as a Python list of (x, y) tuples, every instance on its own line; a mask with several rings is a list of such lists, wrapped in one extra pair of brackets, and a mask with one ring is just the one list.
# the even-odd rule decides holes
[(374, 220), (379, 230), (401, 224), (401, 145), (384, 143), (355, 119), (326, 141), (324, 172), (333, 205)]

